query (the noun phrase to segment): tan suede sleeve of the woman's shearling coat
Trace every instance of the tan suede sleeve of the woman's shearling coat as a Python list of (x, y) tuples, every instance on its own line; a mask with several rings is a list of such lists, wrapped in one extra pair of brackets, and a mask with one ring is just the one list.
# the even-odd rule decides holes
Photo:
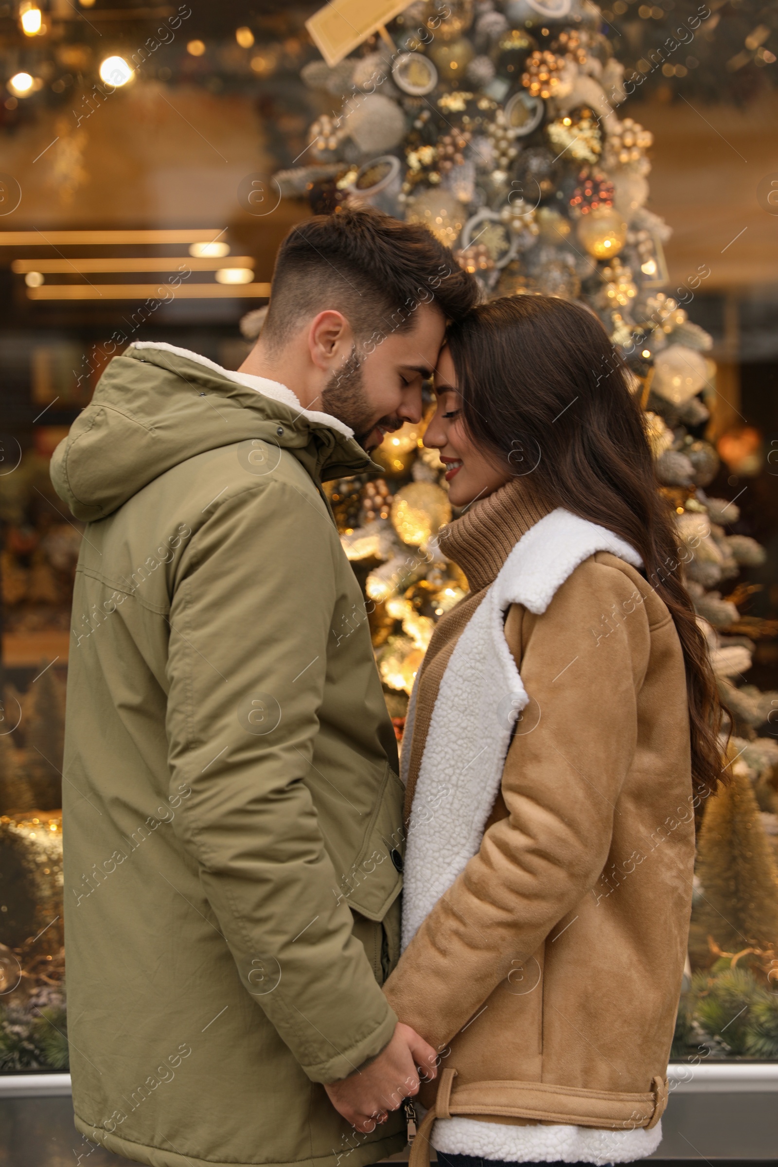
[(384, 986), (400, 1020), (437, 1049), (603, 871), (649, 661), (649, 622), (635, 595), (618, 567), (593, 558), (541, 616), (511, 609), (506, 635), (518, 661), (511, 627), (520, 626), (531, 704), (505, 760), (507, 817), (488, 827)]

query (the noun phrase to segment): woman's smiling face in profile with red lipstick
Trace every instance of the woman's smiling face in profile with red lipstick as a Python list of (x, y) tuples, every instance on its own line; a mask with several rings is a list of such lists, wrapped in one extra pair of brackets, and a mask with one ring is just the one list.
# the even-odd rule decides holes
[(448, 348), (441, 350), (435, 370), (437, 408), (427, 427), (425, 446), (436, 449), (446, 464), (448, 492), (454, 506), (467, 506), (476, 498), (485, 498), (511, 477), (505, 460), (504, 468), (496, 464), (483, 448), (474, 445), (464, 427), (462, 399), (457, 392), (456, 370)]

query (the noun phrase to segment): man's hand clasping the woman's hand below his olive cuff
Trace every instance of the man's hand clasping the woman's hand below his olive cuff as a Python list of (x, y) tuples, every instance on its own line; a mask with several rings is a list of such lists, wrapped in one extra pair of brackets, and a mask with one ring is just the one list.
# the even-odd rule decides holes
[(409, 1025), (398, 1021), (392, 1040), (378, 1057), (341, 1082), (325, 1085), (330, 1102), (358, 1131), (374, 1131), (386, 1112), (419, 1093), (419, 1068), (428, 1081), (436, 1077), (437, 1055)]

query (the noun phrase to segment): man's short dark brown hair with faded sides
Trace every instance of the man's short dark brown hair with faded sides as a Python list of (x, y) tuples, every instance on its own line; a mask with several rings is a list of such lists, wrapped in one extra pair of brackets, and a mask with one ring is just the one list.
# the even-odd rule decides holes
[(422, 303), (458, 321), (478, 298), (474, 277), (426, 226), (346, 209), (306, 219), (286, 237), (262, 335), (281, 345), (302, 321), (330, 308), (343, 313), (357, 342), (378, 340), (411, 329)]

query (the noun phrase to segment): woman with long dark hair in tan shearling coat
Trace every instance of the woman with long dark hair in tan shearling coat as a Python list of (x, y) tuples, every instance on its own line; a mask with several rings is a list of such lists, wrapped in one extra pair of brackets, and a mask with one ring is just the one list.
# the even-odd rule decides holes
[[(640, 411), (598, 321), (545, 296), (448, 336), (426, 434), (470, 595), (404, 746), (404, 955), (440, 1055), (412, 1163), (628, 1162), (661, 1138), (720, 711)], [(685, 552), (686, 555), (689, 552)]]

